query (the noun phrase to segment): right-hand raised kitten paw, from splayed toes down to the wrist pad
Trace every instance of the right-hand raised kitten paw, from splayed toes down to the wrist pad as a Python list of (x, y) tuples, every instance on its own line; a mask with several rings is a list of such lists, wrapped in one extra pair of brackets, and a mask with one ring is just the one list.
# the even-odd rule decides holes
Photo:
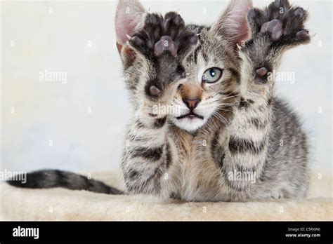
[[(240, 50), (242, 57), (242, 80), (251, 89), (267, 83), (268, 78), (280, 65), (285, 50), (310, 42), (304, 22), (308, 12), (301, 7), (291, 6), (287, 0), (276, 0), (267, 8), (253, 8), (248, 14), (250, 39)], [(270, 76), (270, 77), (268, 77)]]

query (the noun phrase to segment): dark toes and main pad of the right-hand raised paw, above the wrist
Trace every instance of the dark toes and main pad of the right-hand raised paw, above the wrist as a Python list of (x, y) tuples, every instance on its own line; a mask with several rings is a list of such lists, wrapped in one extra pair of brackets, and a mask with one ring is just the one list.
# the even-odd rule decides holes
[(248, 15), (252, 36), (268, 34), (272, 41), (280, 41), (283, 46), (310, 41), (308, 30), (304, 28), (307, 18), (306, 10), (290, 6), (287, 0), (276, 0), (264, 10), (254, 8)]

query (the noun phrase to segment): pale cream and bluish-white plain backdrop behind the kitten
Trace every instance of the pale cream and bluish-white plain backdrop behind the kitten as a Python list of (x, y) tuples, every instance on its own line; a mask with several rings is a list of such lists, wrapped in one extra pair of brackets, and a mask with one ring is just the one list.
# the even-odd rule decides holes
[[(315, 36), (285, 55), (281, 70), (294, 72), (296, 82), (278, 82), (278, 93), (304, 121), (313, 168), (332, 172), (332, 3), (292, 2), (308, 9)], [(1, 170), (119, 167), (131, 113), (115, 46), (116, 4), (1, 1)], [(211, 23), (226, 1), (143, 5)], [(67, 82), (39, 81), (44, 70), (67, 72)]]

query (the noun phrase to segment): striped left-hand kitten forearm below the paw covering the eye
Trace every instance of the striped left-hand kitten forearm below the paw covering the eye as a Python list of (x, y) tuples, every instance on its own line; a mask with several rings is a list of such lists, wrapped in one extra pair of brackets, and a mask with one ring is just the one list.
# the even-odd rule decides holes
[(166, 194), (162, 181), (174, 160), (174, 145), (167, 137), (167, 115), (153, 110), (137, 111), (126, 135), (122, 170), (129, 194)]

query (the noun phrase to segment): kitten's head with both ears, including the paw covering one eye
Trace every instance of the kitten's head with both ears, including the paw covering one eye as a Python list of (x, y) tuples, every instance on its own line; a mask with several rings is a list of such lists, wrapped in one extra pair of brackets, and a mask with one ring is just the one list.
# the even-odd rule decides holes
[[(247, 39), (250, 6), (250, 0), (230, 1), (214, 25), (202, 28), (185, 26), (176, 13), (162, 18), (147, 13), (138, 1), (119, 1), (117, 48), (134, 108), (170, 106), (162, 113), (190, 133), (212, 118), (226, 122), (223, 111), (230, 111), (239, 89), (235, 48)], [(198, 43), (195, 33), (200, 34)]]

